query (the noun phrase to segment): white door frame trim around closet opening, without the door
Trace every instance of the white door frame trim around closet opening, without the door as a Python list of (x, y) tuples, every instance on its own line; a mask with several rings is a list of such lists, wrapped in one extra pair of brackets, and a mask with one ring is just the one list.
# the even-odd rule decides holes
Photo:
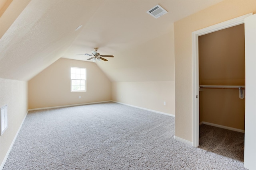
[(244, 23), (244, 19), (251, 16), (252, 13), (234, 18), (232, 20), (224, 21), (210, 27), (206, 27), (192, 32), (192, 59), (193, 59), (193, 141), (192, 145), (198, 147), (199, 145), (199, 47), (198, 37), (221, 29), (233, 27)]

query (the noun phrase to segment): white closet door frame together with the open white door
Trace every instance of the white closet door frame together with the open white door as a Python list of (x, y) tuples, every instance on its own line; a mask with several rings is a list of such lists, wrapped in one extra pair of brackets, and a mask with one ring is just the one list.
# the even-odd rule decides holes
[(199, 145), (199, 66), (198, 66), (198, 37), (221, 29), (244, 23), (245, 33), (245, 136), (244, 136), (244, 167), (247, 169), (256, 168), (256, 14), (246, 14), (224, 21), (197, 31), (192, 32), (192, 58), (193, 58), (193, 119), (192, 119), (192, 145)]

